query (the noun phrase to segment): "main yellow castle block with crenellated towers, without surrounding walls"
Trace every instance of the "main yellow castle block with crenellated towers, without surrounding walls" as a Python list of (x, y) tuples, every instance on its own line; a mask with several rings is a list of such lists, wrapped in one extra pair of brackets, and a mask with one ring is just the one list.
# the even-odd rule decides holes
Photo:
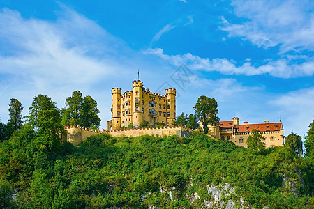
[(143, 87), (140, 80), (133, 81), (133, 91), (121, 94), (121, 88), (112, 88), (112, 120), (108, 121), (108, 130), (121, 127), (140, 127), (142, 121), (149, 125), (164, 123), (172, 126), (176, 120), (176, 89), (165, 90), (165, 95), (154, 93)]

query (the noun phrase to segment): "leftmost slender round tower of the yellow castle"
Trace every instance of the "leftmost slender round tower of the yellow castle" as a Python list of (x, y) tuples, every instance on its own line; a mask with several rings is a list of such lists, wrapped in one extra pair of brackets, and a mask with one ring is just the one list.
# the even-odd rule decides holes
[(112, 88), (112, 130), (121, 127), (121, 88)]

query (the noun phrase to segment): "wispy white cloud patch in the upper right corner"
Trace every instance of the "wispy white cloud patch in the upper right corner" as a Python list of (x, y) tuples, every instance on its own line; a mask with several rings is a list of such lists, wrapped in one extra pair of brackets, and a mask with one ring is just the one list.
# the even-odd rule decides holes
[(234, 0), (232, 6), (242, 21), (233, 24), (222, 17), (220, 29), (230, 37), (244, 38), (265, 49), (279, 45), (282, 52), (314, 50), (313, 1)]

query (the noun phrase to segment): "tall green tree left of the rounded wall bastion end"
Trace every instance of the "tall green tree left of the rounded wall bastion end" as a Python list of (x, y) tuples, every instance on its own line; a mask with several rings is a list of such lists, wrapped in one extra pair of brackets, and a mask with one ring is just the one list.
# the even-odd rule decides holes
[(28, 121), (38, 132), (36, 144), (40, 150), (47, 150), (48, 153), (59, 150), (59, 134), (64, 132), (64, 128), (61, 125), (61, 115), (51, 98), (41, 94), (33, 98)]

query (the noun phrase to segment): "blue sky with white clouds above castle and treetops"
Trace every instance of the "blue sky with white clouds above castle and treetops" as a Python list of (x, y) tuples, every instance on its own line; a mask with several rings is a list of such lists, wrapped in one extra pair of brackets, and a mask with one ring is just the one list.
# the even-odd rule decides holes
[[(177, 88), (177, 114), (200, 95), (221, 121), (278, 122), (303, 136), (314, 116), (313, 1), (0, 0), (0, 119), (10, 98), (63, 107), (75, 90), (110, 120), (111, 88)], [(181, 77), (182, 80), (179, 80)], [(164, 93), (164, 91), (161, 91)]]

